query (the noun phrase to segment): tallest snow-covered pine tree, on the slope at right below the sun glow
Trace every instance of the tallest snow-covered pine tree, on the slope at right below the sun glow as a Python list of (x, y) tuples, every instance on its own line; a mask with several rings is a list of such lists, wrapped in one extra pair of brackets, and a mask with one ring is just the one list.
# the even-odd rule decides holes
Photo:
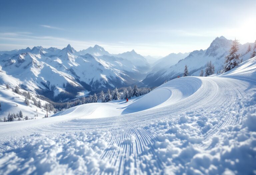
[(234, 68), (240, 63), (240, 54), (237, 54), (238, 51), (238, 40), (235, 39), (232, 42), (231, 48), (229, 50), (229, 54), (225, 57), (225, 67), (224, 67), (224, 72), (229, 71), (230, 69)]

